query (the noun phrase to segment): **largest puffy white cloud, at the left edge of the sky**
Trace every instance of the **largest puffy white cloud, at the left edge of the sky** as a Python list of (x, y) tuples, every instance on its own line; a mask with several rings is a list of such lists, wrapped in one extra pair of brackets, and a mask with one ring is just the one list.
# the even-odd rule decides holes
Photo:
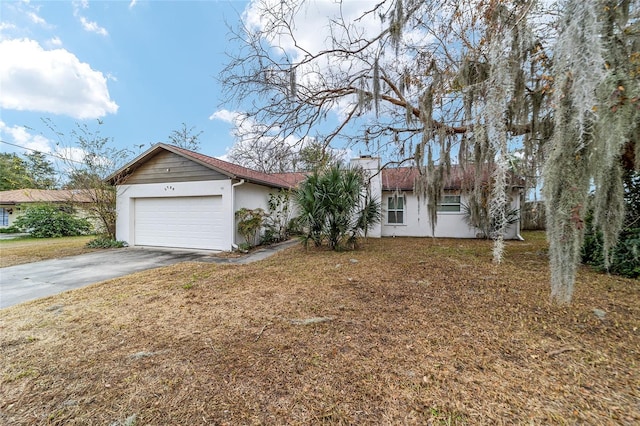
[(29, 39), (0, 41), (0, 107), (77, 119), (115, 114), (107, 79), (65, 49), (44, 50)]

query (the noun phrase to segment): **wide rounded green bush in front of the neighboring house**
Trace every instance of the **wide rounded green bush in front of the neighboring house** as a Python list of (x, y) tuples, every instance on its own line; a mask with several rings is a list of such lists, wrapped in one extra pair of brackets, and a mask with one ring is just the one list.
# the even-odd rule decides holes
[(72, 237), (87, 235), (92, 231), (87, 219), (77, 218), (51, 204), (27, 208), (13, 224), (21, 232), (28, 232), (36, 238)]

